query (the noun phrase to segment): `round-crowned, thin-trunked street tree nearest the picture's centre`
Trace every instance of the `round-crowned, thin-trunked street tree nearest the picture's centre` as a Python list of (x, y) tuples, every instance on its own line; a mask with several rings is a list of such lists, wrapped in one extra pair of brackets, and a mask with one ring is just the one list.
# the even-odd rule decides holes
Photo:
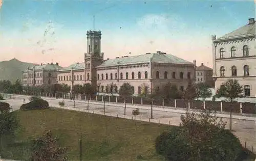
[(123, 85), (119, 89), (119, 95), (124, 98), (125, 106), (124, 106), (124, 113), (126, 112), (126, 101), (127, 97), (131, 97), (134, 94), (134, 87), (131, 86), (130, 83), (123, 83)]

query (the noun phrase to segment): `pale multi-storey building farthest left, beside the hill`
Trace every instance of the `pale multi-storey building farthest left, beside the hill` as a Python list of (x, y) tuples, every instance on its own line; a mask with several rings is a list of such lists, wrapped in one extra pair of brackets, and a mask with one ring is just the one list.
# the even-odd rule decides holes
[(58, 69), (62, 69), (58, 63), (41, 64), (28, 68), (28, 70), (23, 71), (22, 84), (23, 86), (56, 84)]

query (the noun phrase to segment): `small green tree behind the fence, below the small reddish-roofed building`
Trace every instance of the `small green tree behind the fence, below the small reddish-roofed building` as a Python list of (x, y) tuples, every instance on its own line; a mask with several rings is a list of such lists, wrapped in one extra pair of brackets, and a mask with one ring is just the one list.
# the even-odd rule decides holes
[(197, 100), (199, 97), (203, 98), (203, 100), (209, 98), (212, 95), (212, 92), (209, 88), (210, 86), (205, 83), (198, 83), (196, 85)]

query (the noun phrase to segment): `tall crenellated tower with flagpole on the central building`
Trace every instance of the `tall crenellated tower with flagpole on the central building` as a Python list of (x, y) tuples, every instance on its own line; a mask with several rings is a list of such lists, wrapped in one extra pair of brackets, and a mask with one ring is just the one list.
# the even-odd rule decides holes
[(104, 54), (100, 52), (100, 31), (87, 31), (87, 53), (84, 53), (84, 79), (85, 83), (97, 86), (96, 67), (103, 63)]

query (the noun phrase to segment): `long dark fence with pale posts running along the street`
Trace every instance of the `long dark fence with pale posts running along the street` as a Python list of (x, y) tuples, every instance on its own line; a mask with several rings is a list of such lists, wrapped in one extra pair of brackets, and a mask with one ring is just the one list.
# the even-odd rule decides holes
[[(56, 94), (49, 94), (45, 92), (36, 92), (36, 93), (28, 93), (22, 92), (17, 94), (23, 95), (36, 95), (43, 97), (56, 97)], [(11, 97), (11, 96), (10, 96)], [(70, 93), (59, 93), (59, 98), (71, 99)], [(106, 96), (106, 95), (76, 95), (76, 99), (81, 100), (94, 100), (94, 101), (106, 101), (106, 102), (115, 102), (115, 103), (124, 103), (125, 100), (120, 96)], [(126, 103), (131, 104), (141, 104), (141, 105), (151, 105), (152, 100), (150, 98), (145, 97), (129, 97), (126, 98)], [(256, 114), (256, 103), (251, 102), (226, 102), (226, 101), (201, 101), (201, 100), (184, 100), (184, 99), (164, 99), (158, 98), (153, 99), (154, 106), (167, 106), (172, 108), (188, 108), (188, 109), (205, 109), (211, 107), (212, 110), (221, 111), (221, 112), (229, 112), (230, 108), (233, 109), (234, 113), (240, 114)]]

